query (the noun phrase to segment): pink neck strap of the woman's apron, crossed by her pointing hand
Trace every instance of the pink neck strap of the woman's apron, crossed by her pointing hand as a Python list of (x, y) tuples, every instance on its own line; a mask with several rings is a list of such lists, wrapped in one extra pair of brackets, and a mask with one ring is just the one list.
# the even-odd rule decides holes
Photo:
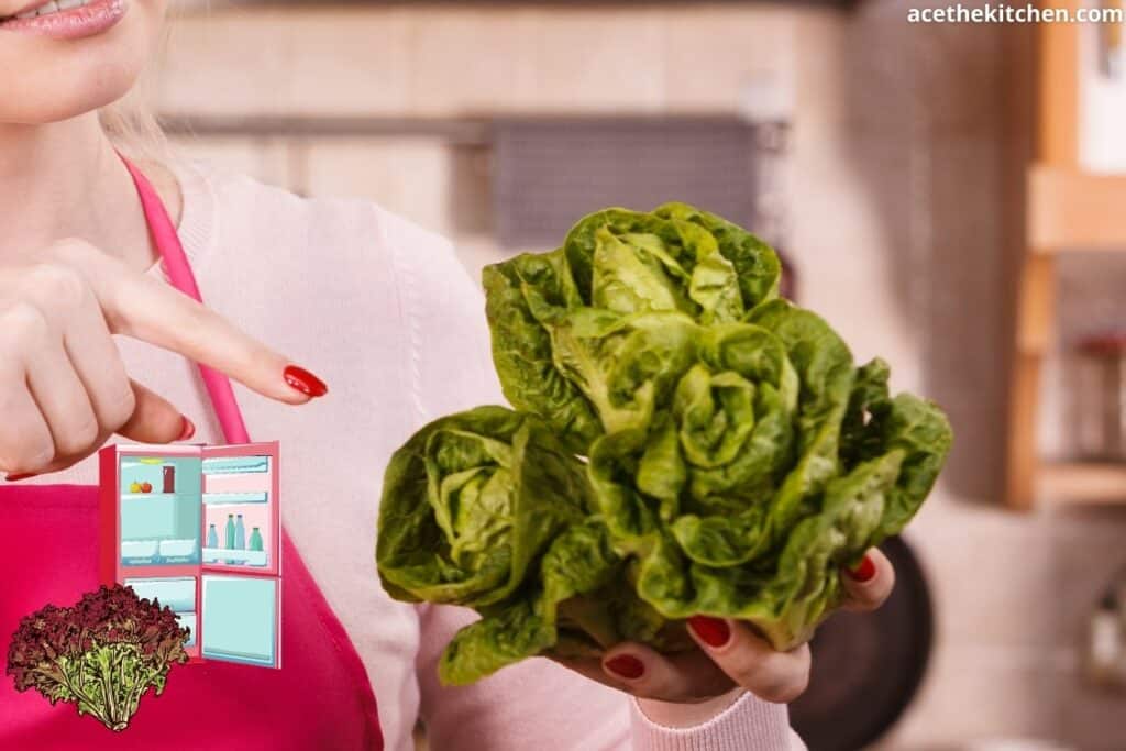
[[(196, 302), (203, 303), (199, 296), (199, 285), (196, 284), (196, 276), (191, 272), (191, 265), (184, 252), (180, 243), (180, 235), (176, 232), (172, 218), (164, 209), (157, 190), (149, 182), (149, 179), (138, 170), (133, 162), (122, 157), (125, 167), (133, 176), (137, 195), (141, 196), (141, 206), (144, 208), (145, 220), (149, 223), (149, 232), (152, 233), (153, 242), (160, 252), (161, 261), (164, 265), (164, 272), (168, 274), (172, 286), (182, 292)], [(199, 365), (199, 375), (207, 387), (207, 394), (212, 400), (212, 408), (218, 417), (220, 426), (223, 428), (223, 437), (229, 444), (249, 444), (250, 436), (247, 433), (247, 423), (242, 420), (242, 411), (239, 402), (234, 397), (234, 390), (231, 387), (231, 379), (218, 370), (214, 370), (206, 365)]]

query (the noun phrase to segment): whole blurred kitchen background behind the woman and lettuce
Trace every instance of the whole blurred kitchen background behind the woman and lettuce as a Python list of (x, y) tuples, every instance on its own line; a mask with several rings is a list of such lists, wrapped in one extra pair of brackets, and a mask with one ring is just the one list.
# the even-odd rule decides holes
[(179, 153), (378, 202), (474, 276), (605, 196), (762, 233), (957, 436), (892, 615), (831, 622), (814, 751), (1120, 751), (1120, 26), (906, 20), (946, 5), (211, 0), (152, 96)]

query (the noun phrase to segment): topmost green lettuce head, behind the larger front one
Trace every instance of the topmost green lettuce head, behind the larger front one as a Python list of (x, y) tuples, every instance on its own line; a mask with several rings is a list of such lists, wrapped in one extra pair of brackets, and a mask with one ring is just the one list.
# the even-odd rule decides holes
[(699, 327), (777, 297), (779, 268), (760, 240), (683, 204), (592, 214), (563, 248), (484, 270), (504, 396), (579, 454), (643, 428), (695, 359)]

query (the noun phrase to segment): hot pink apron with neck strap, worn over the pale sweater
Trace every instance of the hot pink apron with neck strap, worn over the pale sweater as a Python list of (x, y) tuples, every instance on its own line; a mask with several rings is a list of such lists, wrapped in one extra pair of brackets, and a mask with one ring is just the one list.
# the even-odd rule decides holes
[[(136, 168), (126, 166), (169, 279), (199, 299), (160, 198)], [(209, 368), (200, 367), (200, 372), (226, 441), (250, 442), (230, 382)], [(0, 670), (0, 749), (381, 750), (378, 713), (364, 664), (284, 528), (282, 553), (285, 661), (280, 670), (215, 661), (173, 667), (163, 695), (148, 694), (122, 733), (89, 716), (80, 717), (72, 704), (51, 706), (35, 690), (17, 692), (12, 679)], [(71, 605), (98, 585), (97, 488), (0, 488), (0, 660), (5, 667), (20, 618), (48, 602)]]

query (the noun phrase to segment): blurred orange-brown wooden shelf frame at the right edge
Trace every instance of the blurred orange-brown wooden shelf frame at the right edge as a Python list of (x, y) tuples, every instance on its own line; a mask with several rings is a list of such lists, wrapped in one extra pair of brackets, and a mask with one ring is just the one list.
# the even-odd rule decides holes
[[(1078, 9), (1079, 0), (1053, 3)], [(1040, 375), (1056, 320), (1057, 259), (1075, 251), (1126, 251), (1126, 175), (1094, 175), (1080, 162), (1079, 24), (1038, 28), (1037, 140), (1026, 175), (1026, 249), (1020, 263), (1009, 383), (1006, 500), (1126, 502), (1126, 463), (1054, 463), (1037, 446)]]

